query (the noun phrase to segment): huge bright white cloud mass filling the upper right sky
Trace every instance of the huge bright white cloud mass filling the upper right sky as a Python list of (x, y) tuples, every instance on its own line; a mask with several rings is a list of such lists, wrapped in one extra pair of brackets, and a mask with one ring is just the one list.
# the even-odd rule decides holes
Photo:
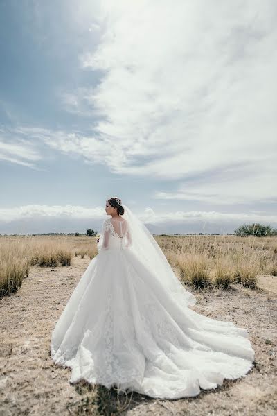
[[(114, 173), (206, 175), (159, 198), (277, 198), (274, 1), (102, 1), (91, 20), (100, 40), (80, 64), (103, 73), (84, 93), (100, 120), (91, 137), (48, 144)], [(78, 111), (78, 100), (71, 107)]]

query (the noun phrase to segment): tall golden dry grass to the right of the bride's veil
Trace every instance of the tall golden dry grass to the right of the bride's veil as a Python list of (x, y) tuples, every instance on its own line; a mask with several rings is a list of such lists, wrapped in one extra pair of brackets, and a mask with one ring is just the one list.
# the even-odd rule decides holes
[(157, 236), (171, 266), (195, 288), (256, 288), (259, 274), (277, 275), (276, 237)]

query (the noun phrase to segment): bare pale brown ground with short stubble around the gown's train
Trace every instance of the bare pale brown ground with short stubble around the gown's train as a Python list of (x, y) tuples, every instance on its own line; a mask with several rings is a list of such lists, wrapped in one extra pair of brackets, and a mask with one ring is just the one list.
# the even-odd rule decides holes
[(240, 284), (228, 292), (189, 288), (197, 297), (190, 306), (197, 313), (249, 330), (256, 364), (241, 379), (170, 401), (137, 393), (118, 396), (116, 390), (83, 381), (71, 385), (71, 370), (51, 361), (51, 331), (88, 264), (88, 258), (75, 258), (72, 267), (33, 267), (19, 291), (0, 300), (1, 416), (277, 415), (277, 277), (259, 277), (265, 290)]

